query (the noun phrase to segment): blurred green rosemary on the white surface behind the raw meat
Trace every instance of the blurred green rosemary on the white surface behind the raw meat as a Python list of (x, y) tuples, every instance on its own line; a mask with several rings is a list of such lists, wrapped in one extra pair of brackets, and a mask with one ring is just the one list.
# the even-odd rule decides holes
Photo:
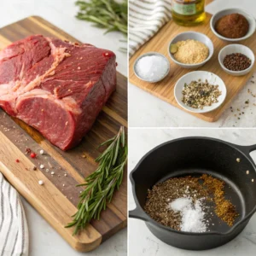
[(106, 33), (119, 31), (127, 37), (127, 0), (121, 3), (115, 0), (77, 1), (76, 4), (80, 9), (78, 19), (94, 22), (95, 26), (106, 28)]

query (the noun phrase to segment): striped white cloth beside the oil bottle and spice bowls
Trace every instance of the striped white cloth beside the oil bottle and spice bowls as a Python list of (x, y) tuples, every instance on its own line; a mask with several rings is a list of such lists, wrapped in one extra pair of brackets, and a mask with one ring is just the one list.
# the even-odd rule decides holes
[(129, 0), (129, 55), (171, 19), (171, 0)]

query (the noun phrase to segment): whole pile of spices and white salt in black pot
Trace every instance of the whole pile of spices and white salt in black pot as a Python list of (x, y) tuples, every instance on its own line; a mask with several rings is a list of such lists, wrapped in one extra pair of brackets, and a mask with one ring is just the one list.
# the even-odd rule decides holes
[(229, 226), (238, 217), (236, 207), (224, 197), (225, 183), (207, 174), (173, 177), (148, 190), (145, 212), (174, 230), (206, 232), (213, 213)]

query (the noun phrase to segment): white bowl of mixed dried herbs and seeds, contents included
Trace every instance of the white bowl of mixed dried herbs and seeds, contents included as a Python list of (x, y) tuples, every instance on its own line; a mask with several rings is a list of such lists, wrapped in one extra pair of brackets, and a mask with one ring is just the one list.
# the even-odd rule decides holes
[(177, 103), (193, 113), (207, 113), (218, 108), (224, 102), (226, 94), (224, 81), (207, 71), (183, 75), (174, 88)]

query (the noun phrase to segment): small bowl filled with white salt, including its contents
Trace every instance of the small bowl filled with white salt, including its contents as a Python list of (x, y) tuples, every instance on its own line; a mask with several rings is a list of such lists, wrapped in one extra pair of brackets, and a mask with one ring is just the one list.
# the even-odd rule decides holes
[(165, 79), (170, 72), (170, 62), (165, 55), (158, 52), (148, 52), (137, 58), (133, 71), (138, 79), (148, 83), (157, 83)]

